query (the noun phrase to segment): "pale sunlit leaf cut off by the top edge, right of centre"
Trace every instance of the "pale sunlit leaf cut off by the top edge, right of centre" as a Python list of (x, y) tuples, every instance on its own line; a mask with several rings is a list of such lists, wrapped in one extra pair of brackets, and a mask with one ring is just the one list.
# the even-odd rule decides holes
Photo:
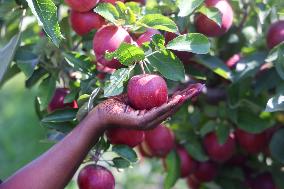
[(178, 16), (186, 17), (193, 13), (195, 9), (197, 9), (204, 0), (179, 0), (178, 1), (178, 8), (179, 13)]

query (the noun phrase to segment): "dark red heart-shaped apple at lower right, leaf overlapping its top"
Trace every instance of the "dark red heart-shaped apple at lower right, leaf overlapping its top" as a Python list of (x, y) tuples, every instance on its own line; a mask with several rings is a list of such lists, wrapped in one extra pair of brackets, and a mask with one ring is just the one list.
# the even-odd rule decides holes
[(229, 160), (236, 151), (235, 136), (231, 133), (224, 144), (220, 144), (214, 132), (207, 134), (203, 140), (203, 145), (210, 158), (222, 163)]

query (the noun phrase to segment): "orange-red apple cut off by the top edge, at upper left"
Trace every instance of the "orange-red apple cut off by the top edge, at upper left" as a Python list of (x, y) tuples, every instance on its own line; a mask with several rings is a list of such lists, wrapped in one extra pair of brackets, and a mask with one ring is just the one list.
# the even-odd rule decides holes
[(65, 3), (78, 12), (88, 12), (92, 10), (99, 0), (65, 0)]

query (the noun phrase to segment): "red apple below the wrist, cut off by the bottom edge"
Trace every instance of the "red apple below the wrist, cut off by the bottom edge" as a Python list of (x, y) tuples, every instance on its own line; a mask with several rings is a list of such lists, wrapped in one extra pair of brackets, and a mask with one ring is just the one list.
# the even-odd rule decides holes
[(114, 189), (115, 180), (112, 173), (99, 165), (87, 165), (78, 176), (80, 189)]

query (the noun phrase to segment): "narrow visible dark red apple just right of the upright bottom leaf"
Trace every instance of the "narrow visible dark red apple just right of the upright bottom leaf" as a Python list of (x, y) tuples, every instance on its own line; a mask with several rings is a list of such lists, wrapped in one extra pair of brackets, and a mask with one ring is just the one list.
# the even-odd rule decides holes
[(179, 147), (177, 149), (180, 158), (180, 176), (187, 177), (197, 169), (198, 163), (188, 154), (186, 149)]

